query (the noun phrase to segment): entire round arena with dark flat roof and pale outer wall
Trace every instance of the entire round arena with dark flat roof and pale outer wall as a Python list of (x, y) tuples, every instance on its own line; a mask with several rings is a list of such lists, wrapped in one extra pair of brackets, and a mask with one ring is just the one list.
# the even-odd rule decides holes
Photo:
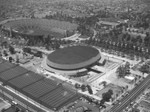
[(90, 46), (71, 46), (58, 49), (47, 56), (46, 64), (56, 70), (80, 70), (87, 68), (101, 58), (100, 52)]

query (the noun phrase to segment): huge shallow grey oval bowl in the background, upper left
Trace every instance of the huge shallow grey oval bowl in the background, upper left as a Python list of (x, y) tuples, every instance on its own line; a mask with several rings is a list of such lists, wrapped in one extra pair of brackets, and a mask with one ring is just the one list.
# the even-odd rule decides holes
[(78, 25), (48, 19), (19, 19), (3, 24), (3, 28), (19, 35), (44, 36), (53, 35), (56, 38), (68, 37), (74, 34)]

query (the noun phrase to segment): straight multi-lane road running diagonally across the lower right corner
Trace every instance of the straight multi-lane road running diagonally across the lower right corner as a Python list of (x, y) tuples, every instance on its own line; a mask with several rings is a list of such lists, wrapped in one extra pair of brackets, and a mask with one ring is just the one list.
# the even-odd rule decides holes
[(126, 108), (132, 100), (137, 98), (143, 90), (149, 86), (150, 84), (150, 75), (148, 75), (138, 86), (136, 86), (130, 93), (129, 95), (125, 96), (120, 103), (117, 103), (114, 105), (111, 110), (108, 112), (121, 112), (123, 111), (124, 108)]

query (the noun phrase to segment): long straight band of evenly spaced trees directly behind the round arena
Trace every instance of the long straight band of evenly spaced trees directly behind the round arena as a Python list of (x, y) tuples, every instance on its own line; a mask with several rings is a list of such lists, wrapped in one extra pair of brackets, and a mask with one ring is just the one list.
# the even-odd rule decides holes
[(134, 45), (133, 43), (125, 43), (120, 41), (112, 41), (109, 39), (92, 39), (83, 41), (84, 43), (92, 46), (101, 47), (106, 50), (122, 52), (123, 55), (129, 55), (130, 57), (134, 57), (134, 55), (144, 58), (149, 58), (150, 47), (141, 47)]

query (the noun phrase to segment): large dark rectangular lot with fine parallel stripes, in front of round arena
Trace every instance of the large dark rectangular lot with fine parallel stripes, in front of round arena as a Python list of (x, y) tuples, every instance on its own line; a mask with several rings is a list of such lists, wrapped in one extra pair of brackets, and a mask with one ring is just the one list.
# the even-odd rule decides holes
[[(9, 62), (4, 62), (3, 65), (6, 68), (9, 65), (9, 69), (3, 69), (5, 71), (0, 73), (0, 81), (49, 109), (59, 110), (80, 98), (76, 91), (57, 84), (55, 80), (46, 79), (20, 66), (14, 67)], [(0, 68), (1, 66), (2, 64)]]

